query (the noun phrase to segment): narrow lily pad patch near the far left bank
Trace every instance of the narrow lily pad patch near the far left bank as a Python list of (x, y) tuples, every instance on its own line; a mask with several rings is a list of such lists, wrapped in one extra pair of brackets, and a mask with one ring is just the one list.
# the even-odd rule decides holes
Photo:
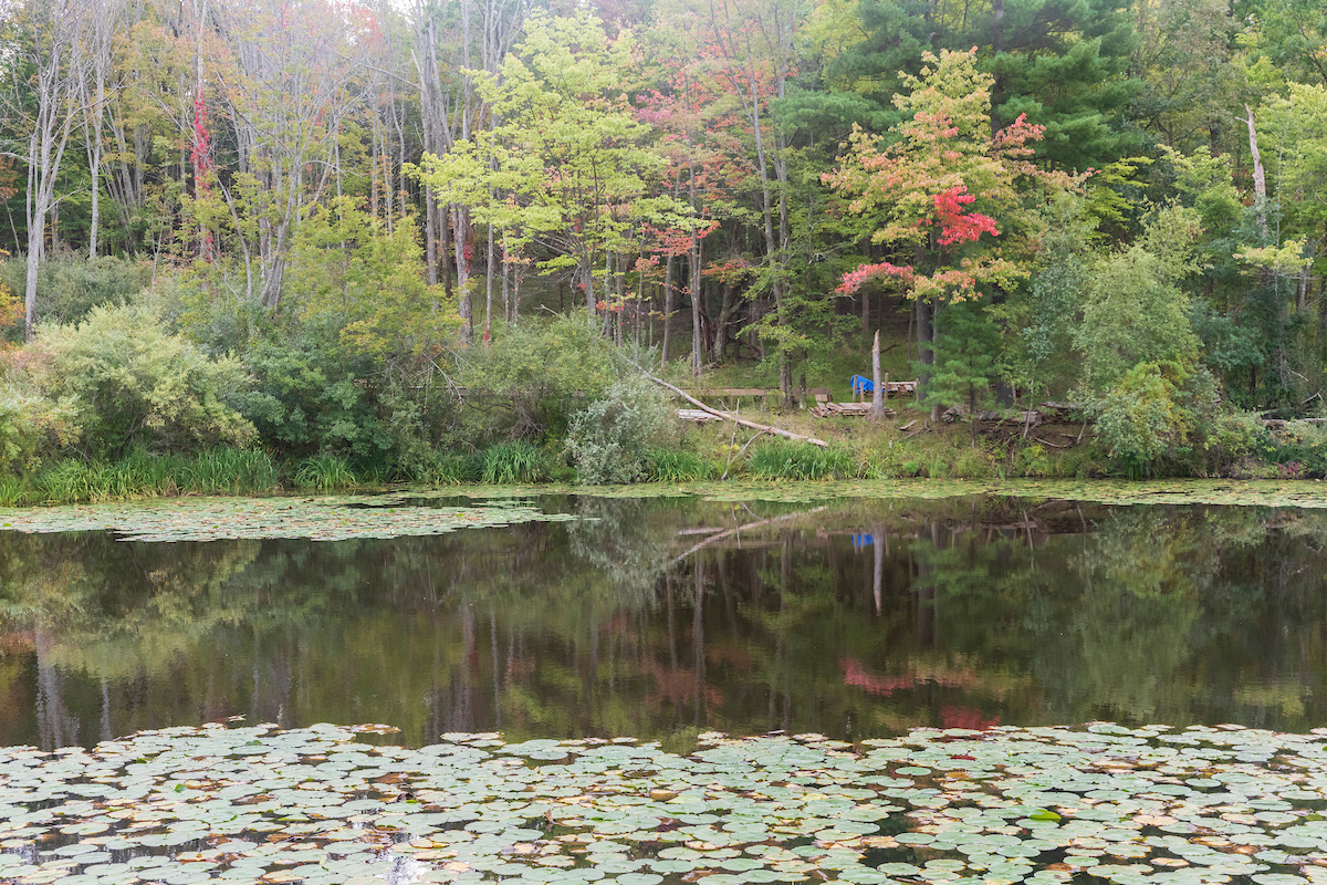
[(0, 529), (16, 532), (111, 531), (133, 541), (211, 541), (307, 537), (442, 535), (458, 528), (492, 528), (569, 520), (523, 500), (472, 507), (407, 506), (399, 496), (196, 498), (173, 502), (0, 510)]

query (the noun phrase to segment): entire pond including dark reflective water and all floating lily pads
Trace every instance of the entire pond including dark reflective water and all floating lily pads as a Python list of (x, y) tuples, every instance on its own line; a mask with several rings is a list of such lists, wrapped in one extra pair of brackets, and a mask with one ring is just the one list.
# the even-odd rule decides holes
[(1316, 484), (0, 527), (0, 881), (1327, 878)]

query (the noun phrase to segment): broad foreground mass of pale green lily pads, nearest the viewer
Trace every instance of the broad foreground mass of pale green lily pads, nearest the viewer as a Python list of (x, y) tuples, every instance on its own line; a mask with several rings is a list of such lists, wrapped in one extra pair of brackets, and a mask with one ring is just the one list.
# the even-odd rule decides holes
[(372, 726), (169, 728), (0, 752), (0, 881), (1091, 882), (1327, 880), (1327, 735), (920, 730), (857, 744)]

